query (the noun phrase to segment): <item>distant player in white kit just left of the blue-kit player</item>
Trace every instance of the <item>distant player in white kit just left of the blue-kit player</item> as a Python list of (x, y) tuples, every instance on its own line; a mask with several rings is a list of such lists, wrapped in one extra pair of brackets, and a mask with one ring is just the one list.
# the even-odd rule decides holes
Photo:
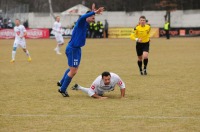
[(63, 40), (63, 36), (62, 36), (62, 26), (60, 23), (60, 17), (57, 16), (56, 17), (56, 21), (53, 24), (53, 33), (55, 35), (56, 41), (57, 41), (57, 46), (54, 49), (56, 51), (57, 54), (61, 54), (60, 53), (60, 47), (64, 44), (64, 40)]

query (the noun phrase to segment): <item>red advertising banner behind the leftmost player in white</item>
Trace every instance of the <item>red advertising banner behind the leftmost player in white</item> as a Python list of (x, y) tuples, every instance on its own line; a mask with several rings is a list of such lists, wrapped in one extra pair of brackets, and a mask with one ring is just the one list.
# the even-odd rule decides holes
[[(38, 39), (38, 38), (49, 38), (49, 29), (26, 29), (26, 38)], [(15, 38), (15, 33), (13, 29), (1, 29), (0, 39), (13, 39)]]

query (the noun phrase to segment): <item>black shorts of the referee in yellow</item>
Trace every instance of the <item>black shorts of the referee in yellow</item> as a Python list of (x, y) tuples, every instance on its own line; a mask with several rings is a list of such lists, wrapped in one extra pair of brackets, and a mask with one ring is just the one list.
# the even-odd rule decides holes
[(141, 56), (144, 51), (149, 52), (149, 42), (146, 43), (136, 42), (137, 56)]

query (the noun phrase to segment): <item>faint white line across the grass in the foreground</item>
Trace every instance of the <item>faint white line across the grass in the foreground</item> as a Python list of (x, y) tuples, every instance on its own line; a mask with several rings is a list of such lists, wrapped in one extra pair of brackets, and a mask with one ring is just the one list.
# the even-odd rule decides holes
[(95, 115), (54, 115), (54, 114), (0, 114), (0, 117), (75, 117), (75, 118), (129, 118), (129, 119), (195, 119), (200, 117), (194, 116), (95, 116)]

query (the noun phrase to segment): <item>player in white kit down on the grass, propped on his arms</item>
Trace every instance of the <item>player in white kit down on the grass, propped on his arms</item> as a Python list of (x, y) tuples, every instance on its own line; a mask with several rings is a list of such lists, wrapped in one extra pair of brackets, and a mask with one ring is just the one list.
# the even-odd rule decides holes
[(90, 97), (97, 99), (106, 99), (107, 97), (103, 97), (105, 92), (113, 91), (115, 85), (118, 85), (121, 91), (121, 98), (125, 97), (125, 84), (121, 80), (121, 78), (115, 74), (110, 72), (103, 72), (99, 75), (94, 82), (92, 83), (90, 88), (84, 88), (78, 84), (75, 84), (72, 87), (72, 90), (81, 90), (84, 93), (88, 94)]

